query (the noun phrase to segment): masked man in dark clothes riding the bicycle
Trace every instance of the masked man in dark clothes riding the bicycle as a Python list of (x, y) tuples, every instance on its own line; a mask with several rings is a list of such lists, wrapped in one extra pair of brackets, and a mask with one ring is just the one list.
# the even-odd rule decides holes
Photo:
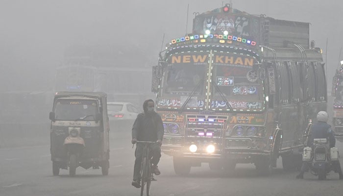
[[(155, 103), (152, 99), (147, 99), (143, 103), (144, 113), (137, 116), (132, 127), (132, 144), (137, 141), (157, 142), (150, 146), (149, 151), (152, 152), (152, 172), (159, 175), (157, 164), (161, 157), (161, 145), (164, 134), (162, 119), (159, 114), (154, 111)], [(143, 156), (143, 144), (137, 143), (135, 151), (135, 166), (133, 170), (132, 186), (141, 187), (140, 171)]]

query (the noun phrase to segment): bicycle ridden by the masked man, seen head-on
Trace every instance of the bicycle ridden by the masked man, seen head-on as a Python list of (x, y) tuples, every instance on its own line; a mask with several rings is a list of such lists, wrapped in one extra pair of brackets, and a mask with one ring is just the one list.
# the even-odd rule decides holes
[(149, 145), (157, 144), (157, 142), (146, 142), (146, 141), (137, 141), (137, 144), (143, 144), (143, 156), (142, 156), (142, 165), (141, 165), (141, 196), (144, 193), (144, 187), (147, 185), (147, 196), (149, 196), (151, 181), (156, 181), (154, 179), (153, 173), (151, 172), (151, 156), (149, 155)]

